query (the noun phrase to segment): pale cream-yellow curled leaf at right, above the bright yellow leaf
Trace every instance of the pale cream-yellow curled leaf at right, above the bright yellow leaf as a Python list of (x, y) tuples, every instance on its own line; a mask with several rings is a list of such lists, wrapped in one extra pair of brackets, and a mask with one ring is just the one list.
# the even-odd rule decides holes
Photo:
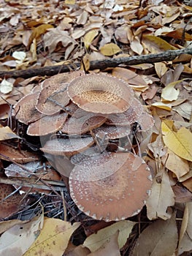
[(180, 94), (180, 91), (177, 89), (174, 89), (174, 86), (177, 85), (177, 83), (182, 82), (183, 80), (177, 80), (172, 83), (169, 83), (163, 90), (161, 97), (164, 100), (168, 100), (169, 102), (172, 102), (173, 100), (176, 100)]

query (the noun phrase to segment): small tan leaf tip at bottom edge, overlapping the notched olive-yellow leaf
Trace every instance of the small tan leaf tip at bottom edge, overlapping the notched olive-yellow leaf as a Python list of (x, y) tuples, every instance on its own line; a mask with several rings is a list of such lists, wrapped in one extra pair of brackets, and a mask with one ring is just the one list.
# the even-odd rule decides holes
[(118, 233), (117, 231), (113, 234), (109, 240), (107, 240), (101, 248), (99, 248), (96, 252), (92, 252), (90, 256), (120, 256), (120, 250), (118, 246)]

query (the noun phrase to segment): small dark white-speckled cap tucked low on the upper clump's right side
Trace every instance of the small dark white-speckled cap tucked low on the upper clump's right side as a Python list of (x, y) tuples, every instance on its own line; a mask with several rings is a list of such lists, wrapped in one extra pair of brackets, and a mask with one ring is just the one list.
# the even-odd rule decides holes
[(96, 137), (101, 139), (105, 136), (106, 139), (115, 140), (129, 135), (131, 133), (131, 127), (129, 125), (120, 127), (103, 124), (101, 127), (94, 129), (94, 133)]

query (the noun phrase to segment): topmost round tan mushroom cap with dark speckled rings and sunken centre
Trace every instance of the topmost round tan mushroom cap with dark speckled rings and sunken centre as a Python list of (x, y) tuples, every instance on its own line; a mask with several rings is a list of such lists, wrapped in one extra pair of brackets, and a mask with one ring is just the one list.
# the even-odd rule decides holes
[(67, 93), (72, 102), (93, 113), (122, 113), (126, 111), (134, 92), (128, 83), (110, 75), (91, 74), (75, 78)]

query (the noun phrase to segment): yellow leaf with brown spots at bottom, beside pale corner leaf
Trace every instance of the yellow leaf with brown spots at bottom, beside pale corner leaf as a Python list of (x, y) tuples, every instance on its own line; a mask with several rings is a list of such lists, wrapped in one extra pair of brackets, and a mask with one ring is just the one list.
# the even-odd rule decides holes
[(61, 219), (45, 219), (41, 233), (24, 256), (63, 255), (74, 230), (80, 223), (64, 222)]

